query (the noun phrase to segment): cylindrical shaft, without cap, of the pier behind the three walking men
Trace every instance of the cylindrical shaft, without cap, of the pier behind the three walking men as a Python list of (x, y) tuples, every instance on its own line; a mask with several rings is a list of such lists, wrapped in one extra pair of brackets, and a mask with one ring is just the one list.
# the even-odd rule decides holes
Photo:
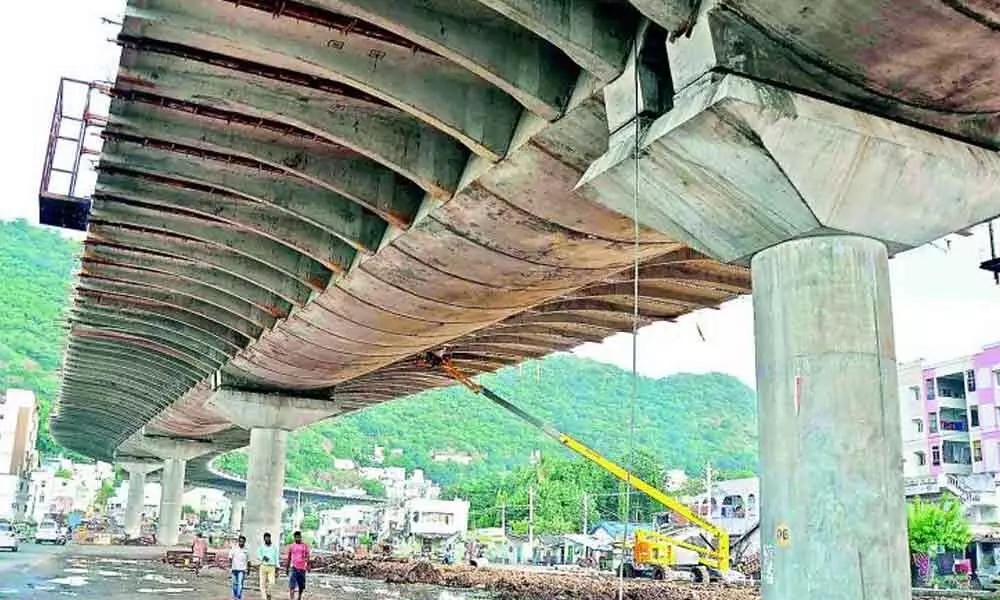
[(256, 556), (264, 533), (281, 544), (281, 494), (285, 487), (285, 448), (288, 431), (254, 427), (250, 429), (247, 466), (247, 504), (243, 535), (250, 556)]

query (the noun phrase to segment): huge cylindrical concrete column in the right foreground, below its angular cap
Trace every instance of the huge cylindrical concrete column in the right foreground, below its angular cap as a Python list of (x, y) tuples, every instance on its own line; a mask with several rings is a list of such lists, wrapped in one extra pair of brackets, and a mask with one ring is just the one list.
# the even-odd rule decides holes
[(876, 240), (752, 262), (766, 600), (909, 600), (889, 264)]

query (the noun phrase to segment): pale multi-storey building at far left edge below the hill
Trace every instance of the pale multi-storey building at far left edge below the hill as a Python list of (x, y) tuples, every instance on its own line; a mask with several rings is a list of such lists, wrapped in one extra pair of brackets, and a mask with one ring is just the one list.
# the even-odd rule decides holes
[(0, 518), (23, 517), (37, 463), (38, 406), (28, 390), (0, 394)]

